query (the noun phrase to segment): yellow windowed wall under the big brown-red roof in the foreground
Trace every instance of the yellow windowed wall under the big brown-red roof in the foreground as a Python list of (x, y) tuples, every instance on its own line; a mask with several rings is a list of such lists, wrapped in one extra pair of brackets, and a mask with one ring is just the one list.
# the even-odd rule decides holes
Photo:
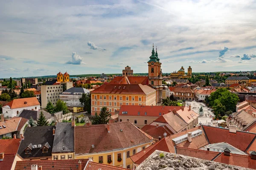
[[(148, 142), (145, 144), (140, 144), (134, 147), (124, 148), (121, 150), (113, 150), (107, 152), (99, 152), (86, 155), (75, 155), (75, 159), (92, 159), (94, 162), (99, 162), (102, 157), (103, 164), (109, 164), (118, 167), (130, 168), (133, 167), (133, 161), (130, 159), (130, 156), (140, 152), (141, 150), (149, 147), (153, 142)], [(135, 150), (135, 152), (134, 152)], [(129, 153), (128, 153), (129, 152)], [(121, 161), (118, 161), (118, 154), (121, 155)], [(111, 157), (111, 163), (108, 163), (108, 159)], [(101, 162), (100, 162), (101, 163)]]

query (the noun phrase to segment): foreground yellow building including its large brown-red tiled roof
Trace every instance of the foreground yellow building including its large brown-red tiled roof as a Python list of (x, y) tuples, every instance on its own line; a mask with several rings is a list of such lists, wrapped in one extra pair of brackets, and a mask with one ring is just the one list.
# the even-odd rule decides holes
[(153, 143), (131, 122), (75, 127), (75, 158), (131, 169), (130, 156)]

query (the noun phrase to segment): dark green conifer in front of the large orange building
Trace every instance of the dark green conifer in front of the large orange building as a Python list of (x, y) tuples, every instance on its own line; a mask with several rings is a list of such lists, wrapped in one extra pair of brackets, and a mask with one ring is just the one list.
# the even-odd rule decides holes
[(99, 125), (99, 124), (107, 124), (109, 122), (109, 119), (111, 117), (111, 113), (109, 113), (107, 107), (103, 107), (100, 109), (99, 116), (96, 113), (93, 117), (92, 124), (93, 125)]

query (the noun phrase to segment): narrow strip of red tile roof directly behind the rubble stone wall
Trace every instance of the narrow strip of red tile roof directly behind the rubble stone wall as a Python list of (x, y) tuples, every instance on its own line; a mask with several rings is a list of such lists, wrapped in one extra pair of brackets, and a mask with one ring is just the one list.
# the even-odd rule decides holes
[(211, 161), (219, 152), (176, 146), (177, 154)]

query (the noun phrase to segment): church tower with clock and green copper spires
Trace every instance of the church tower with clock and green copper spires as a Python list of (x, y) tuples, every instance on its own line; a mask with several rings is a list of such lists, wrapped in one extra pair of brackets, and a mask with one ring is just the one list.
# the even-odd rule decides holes
[(157, 54), (157, 48), (156, 53), (154, 52), (154, 44), (153, 44), (153, 50), (151, 52), (151, 56), (149, 57), (148, 61), (148, 84), (151, 85), (156, 91), (156, 103), (157, 105), (161, 105), (162, 102), (162, 69), (161, 69), (161, 62), (158, 58)]

